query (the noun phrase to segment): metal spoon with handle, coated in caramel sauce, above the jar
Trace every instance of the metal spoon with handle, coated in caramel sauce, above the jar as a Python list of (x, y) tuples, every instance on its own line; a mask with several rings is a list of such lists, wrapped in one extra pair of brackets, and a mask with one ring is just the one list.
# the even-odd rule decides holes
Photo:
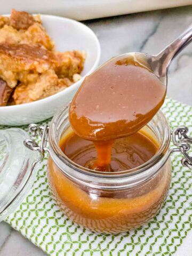
[(161, 108), (170, 62), (191, 39), (192, 25), (158, 55), (125, 53), (87, 76), (70, 105), (74, 131), (103, 141), (140, 130)]

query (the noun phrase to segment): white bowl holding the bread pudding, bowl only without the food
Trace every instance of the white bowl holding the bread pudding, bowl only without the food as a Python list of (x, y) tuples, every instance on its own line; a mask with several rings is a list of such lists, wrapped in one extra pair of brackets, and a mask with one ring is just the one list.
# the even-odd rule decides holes
[(37, 123), (50, 118), (62, 105), (74, 96), (85, 76), (97, 68), (100, 59), (100, 44), (93, 31), (84, 24), (57, 16), (41, 15), (43, 26), (53, 38), (58, 51), (86, 51), (86, 60), (82, 71), (82, 79), (67, 89), (30, 103), (0, 107), (0, 124), (24, 125)]

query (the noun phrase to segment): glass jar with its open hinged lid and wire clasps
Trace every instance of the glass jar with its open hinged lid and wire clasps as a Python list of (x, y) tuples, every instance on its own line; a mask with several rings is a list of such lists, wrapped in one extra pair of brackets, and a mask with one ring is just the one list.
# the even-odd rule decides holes
[[(47, 164), (52, 195), (61, 211), (74, 222), (100, 233), (119, 233), (137, 228), (154, 217), (169, 190), (170, 154), (181, 151), (185, 156), (182, 164), (192, 168), (192, 158), (187, 154), (192, 139), (187, 137), (187, 128), (178, 127), (173, 130), (172, 140), (177, 148), (170, 150), (170, 127), (159, 111), (142, 129), (158, 143), (157, 153), (137, 168), (102, 173), (74, 163), (59, 147), (60, 138), (69, 127), (68, 108), (66, 106), (55, 114), (50, 127), (35, 124), (29, 126), (33, 137), (40, 135), (40, 145), (21, 129), (0, 131), (0, 147), (5, 149), (5, 154), (0, 157), (0, 220), (13, 211), (26, 195), (35, 177), (34, 166), (44, 157), (45, 151), (49, 152)], [(22, 133), (22, 136), (15, 133), (10, 135), (10, 130)], [(10, 141), (6, 140), (7, 136), (11, 136)], [(17, 141), (13, 141), (12, 137), (17, 138)], [(27, 148), (23, 146), (24, 138)], [(18, 148), (10, 145), (17, 145)], [(18, 152), (20, 158), (16, 161)], [(14, 158), (9, 158), (13, 153)], [(18, 174), (7, 189), (11, 191), (11, 196), (6, 197), (1, 184), (6, 183), (11, 175), (10, 161), (15, 164)], [(15, 187), (15, 184), (18, 185)]]

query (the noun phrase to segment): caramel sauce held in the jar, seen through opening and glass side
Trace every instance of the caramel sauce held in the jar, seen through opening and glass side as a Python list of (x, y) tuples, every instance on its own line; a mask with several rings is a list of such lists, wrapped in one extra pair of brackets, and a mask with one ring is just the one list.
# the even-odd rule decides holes
[[(78, 137), (70, 128), (62, 135), (60, 147), (76, 164), (86, 166), (97, 158), (93, 142)], [(120, 138), (112, 146), (110, 173), (121, 174), (128, 166), (140, 166), (157, 150), (157, 141), (147, 132)], [(170, 173), (171, 164), (167, 161), (154, 177), (139, 185), (123, 189), (92, 188), (91, 181), (85, 185), (67, 177), (49, 158), (48, 177), (54, 198), (68, 218), (94, 231), (111, 234), (137, 228), (154, 217), (166, 197)]]

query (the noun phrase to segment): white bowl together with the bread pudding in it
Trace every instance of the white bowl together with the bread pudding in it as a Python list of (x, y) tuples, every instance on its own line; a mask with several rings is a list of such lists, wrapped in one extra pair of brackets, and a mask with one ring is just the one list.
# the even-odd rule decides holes
[(0, 71), (1, 105), (10, 106), (0, 107), (0, 124), (29, 124), (53, 116), (98, 66), (100, 45), (91, 29), (51, 15), (34, 15), (33, 19), (18, 25), (9, 15), (1, 18), (0, 59), (7, 64)]

